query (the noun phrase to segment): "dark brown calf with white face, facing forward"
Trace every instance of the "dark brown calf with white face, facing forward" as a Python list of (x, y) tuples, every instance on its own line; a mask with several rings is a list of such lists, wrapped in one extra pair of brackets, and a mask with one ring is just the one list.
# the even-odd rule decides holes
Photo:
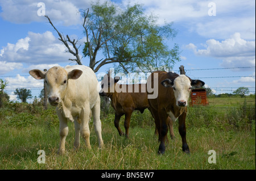
[[(154, 80), (158, 81), (158, 83)], [(168, 132), (168, 116), (173, 121), (179, 118), (179, 133), (182, 140), (182, 150), (190, 153), (186, 140), (185, 119), (187, 116), (188, 98), (192, 86), (204, 86), (204, 82), (200, 80), (192, 80), (186, 75), (179, 75), (166, 71), (155, 71), (148, 77), (147, 86), (155, 85), (154, 91), (158, 92), (158, 96), (154, 99), (148, 99), (151, 114), (154, 117), (156, 128), (159, 135), (159, 154), (164, 154), (166, 150), (165, 141)], [(148, 92), (148, 94), (153, 94)]]

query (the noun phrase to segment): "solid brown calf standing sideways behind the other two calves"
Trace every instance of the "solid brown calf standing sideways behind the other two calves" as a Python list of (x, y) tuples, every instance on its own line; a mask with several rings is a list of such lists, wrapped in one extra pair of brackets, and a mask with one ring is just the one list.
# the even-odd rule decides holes
[[(121, 116), (125, 115), (125, 136), (128, 138), (131, 114), (134, 110), (139, 110), (143, 113), (148, 108), (146, 84), (120, 85), (117, 83), (118, 81), (119, 77), (113, 79), (109, 77), (109, 74), (105, 75), (101, 83), (100, 95), (108, 96), (111, 99), (111, 106), (115, 110), (114, 125), (120, 136), (124, 135), (124, 133), (119, 127), (119, 120)], [(122, 91), (120, 92), (120, 90)], [(150, 108), (148, 109), (150, 110)], [(168, 126), (171, 138), (174, 138), (171, 119)], [(155, 134), (157, 134), (157, 131), (155, 131)]]

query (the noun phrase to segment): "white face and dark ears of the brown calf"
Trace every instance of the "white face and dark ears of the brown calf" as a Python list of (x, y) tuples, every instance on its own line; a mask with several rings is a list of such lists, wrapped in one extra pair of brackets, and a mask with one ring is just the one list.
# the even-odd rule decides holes
[(165, 79), (161, 82), (164, 87), (172, 87), (176, 99), (176, 106), (188, 106), (188, 99), (191, 93), (192, 86), (202, 87), (204, 82), (200, 80), (192, 80), (186, 75), (179, 75), (174, 79)]

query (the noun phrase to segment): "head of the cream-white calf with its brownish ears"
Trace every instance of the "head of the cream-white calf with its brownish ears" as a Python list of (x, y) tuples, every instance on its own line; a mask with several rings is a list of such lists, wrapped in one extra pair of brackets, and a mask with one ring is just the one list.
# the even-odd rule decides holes
[(45, 79), (48, 102), (52, 106), (57, 106), (57, 104), (61, 103), (63, 94), (67, 89), (68, 80), (77, 79), (81, 74), (81, 70), (74, 69), (68, 73), (59, 66), (54, 66), (47, 72), (38, 69), (30, 70), (30, 75), (35, 79)]

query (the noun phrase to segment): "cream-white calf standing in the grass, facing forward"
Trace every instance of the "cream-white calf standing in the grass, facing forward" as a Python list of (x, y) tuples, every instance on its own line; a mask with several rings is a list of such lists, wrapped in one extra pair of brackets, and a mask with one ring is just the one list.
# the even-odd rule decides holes
[(100, 148), (104, 145), (101, 136), (100, 96), (98, 81), (92, 69), (84, 65), (54, 66), (47, 72), (34, 69), (30, 75), (44, 79), (48, 102), (56, 107), (60, 121), (59, 153), (65, 153), (65, 139), (68, 135), (68, 120), (75, 124), (75, 149), (80, 146), (80, 134), (90, 149), (89, 116), (92, 110), (94, 129)]

